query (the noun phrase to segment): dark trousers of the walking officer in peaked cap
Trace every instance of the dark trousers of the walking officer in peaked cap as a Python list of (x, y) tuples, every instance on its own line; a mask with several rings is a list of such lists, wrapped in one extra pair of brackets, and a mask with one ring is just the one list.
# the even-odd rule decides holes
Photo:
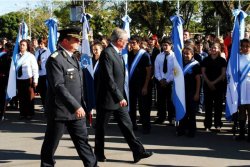
[(54, 154), (65, 128), (67, 128), (84, 166), (97, 166), (95, 155), (88, 143), (86, 119), (84, 118), (73, 121), (48, 120), (41, 149), (41, 167), (52, 167), (55, 165)]

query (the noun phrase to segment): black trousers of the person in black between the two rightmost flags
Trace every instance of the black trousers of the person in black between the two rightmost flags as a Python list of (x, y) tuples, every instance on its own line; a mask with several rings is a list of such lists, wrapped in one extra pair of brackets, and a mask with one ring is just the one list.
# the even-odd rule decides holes
[(214, 109), (214, 127), (222, 127), (222, 110), (223, 110), (223, 90), (216, 89), (214, 91), (209, 88), (204, 89), (204, 103), (205, 103), (205, 128), (212, 127), (213, 109)]

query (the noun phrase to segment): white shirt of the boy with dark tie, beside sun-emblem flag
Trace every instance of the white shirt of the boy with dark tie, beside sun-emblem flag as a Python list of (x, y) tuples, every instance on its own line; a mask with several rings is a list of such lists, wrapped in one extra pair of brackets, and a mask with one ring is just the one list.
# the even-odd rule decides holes
[(166, 79), (167, 82), (174, 80), (174, 52), (171, 51), (167, 56), (168, 69), (167, 72), (163, 72), (163, 62), (165, 58), (165, 52), (161, 52), (156, 56), (155, 59), (155, 78), (160, 81)]

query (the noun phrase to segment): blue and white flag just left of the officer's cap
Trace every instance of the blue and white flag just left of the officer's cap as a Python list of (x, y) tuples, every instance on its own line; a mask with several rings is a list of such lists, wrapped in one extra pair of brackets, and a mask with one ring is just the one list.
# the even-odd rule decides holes
[(49, 28), (48, 48), (50, 53), (56, 51), (57, 44), (57, 19), (50, 18), (45, 21), (46, 26)]

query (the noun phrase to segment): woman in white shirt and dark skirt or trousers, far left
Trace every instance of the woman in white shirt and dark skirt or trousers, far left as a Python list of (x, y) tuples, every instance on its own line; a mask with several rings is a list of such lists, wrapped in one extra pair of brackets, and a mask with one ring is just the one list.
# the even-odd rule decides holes
[(17, 90), (20, 119), (32, 119), (34, 115), (34, 89), (38, 84), (38, 65), (35, 56), (29, 52), (28, 40), (22, 39), (17, 54)]

